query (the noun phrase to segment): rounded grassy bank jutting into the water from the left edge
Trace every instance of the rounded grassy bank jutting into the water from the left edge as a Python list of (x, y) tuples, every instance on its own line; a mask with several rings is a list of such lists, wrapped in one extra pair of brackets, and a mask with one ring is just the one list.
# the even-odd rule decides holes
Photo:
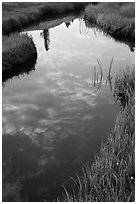
[(2, 71), (6, 72), (28, 60), (37, 59), (37, 50), (28, 35), (3, 36)]

